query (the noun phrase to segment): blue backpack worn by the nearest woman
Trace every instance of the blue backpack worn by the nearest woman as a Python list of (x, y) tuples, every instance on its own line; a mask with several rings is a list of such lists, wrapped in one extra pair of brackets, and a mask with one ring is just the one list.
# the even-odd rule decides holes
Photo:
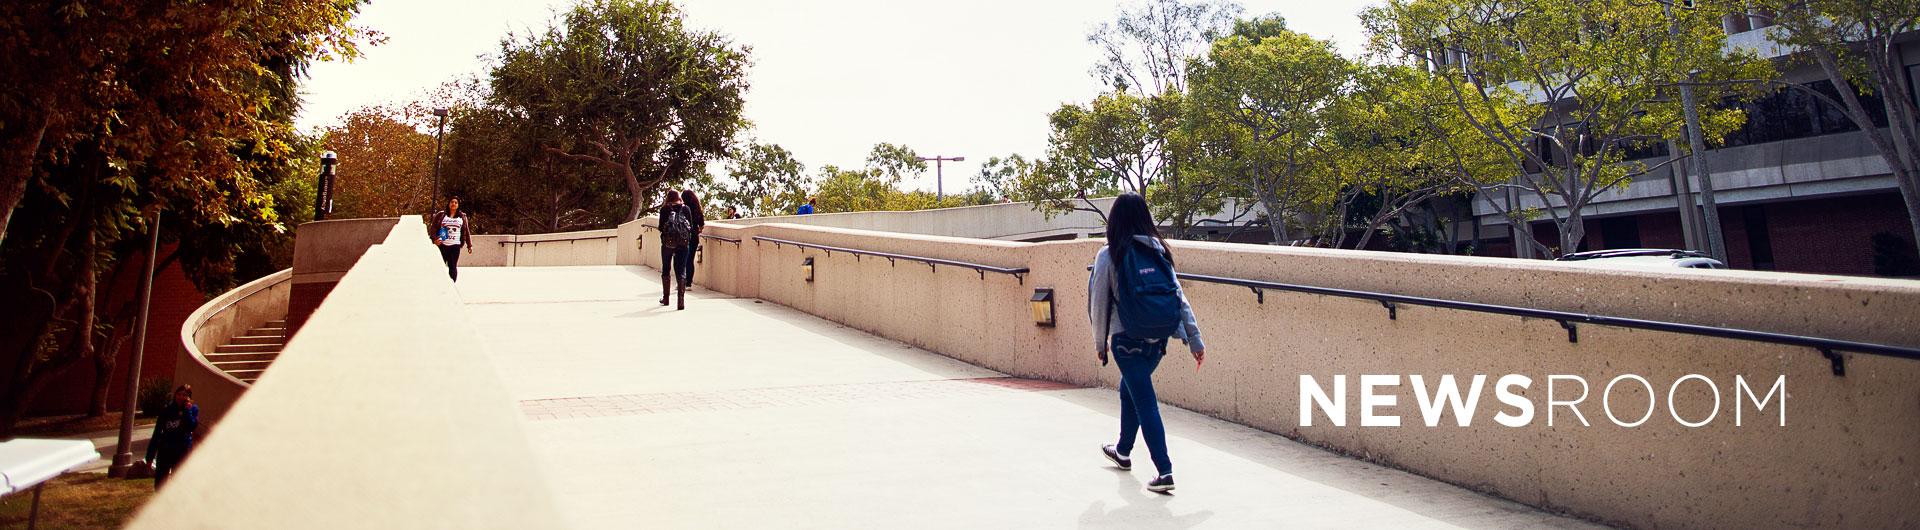
[(1181, 284), (1165, 255), (1133, 242), (1121, 252), (1119, 263), (1114, 263), (1114, 273), (1119, 280), (1114, 309), (1129, 338), (1167, 338), (1181, 328)]

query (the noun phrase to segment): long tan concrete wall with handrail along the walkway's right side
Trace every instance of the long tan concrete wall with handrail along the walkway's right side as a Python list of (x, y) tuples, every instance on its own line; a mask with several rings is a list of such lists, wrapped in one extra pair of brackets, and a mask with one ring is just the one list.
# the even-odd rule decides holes
[[(866, 232), (828, 227), (714, 223), (697, 282), (735, 296), (762, 298), (879, 336), (927, 348), (1018, 376), (1114, 386), (1117, 371), (1100, 367), (1085, 317), (1087, 265), (1098, 240), (1018, 244), (943, 236)], [(641, 244), (657, 242), (639, 230)], [(755, 242), (753, 236), (860, 248), (891, 253), (1031, 267), (1021, 280), (981, 278), (970, 269)], [(1352, 250), (1175, 242), (1181, 271), (1294, 282), (1329, 288), (1450, 298), (1657, 319), (1709, 326), (1814, 334), (1860, 342), (1920, 346), (1920, 282), (1782, 275), (1751, 271), (1609, 271), (1578, 263), (1496, 257), (1413, 255)], [(657, 267), (651, 252), (620, 263)], [(801, 278), (801, 259), (814, 257), (814, 282)], [(1056, 290), (1060, 325), (1035, 326), (1027, 298)], [(1578, 342), (1553, 321), (1434, 307), (1400, 307), (1398, 319), (1377, 301), (1187, 282), (1204, 326), (1208, 363), (1173, 353), (1156, 384), (1164, 401), (1279, 432), (1334, 451), (1404, 467), (1427, 476), (1630, 526), (1916, 526), (1920, 507), (1920, 361), (1843, 353), (1847, 374), (1807, 348), (1670, 332), (1580, 326)], [(1181, 349), (1175, 346), (1175, 349)], [(1300, 424), (1300, 374), (1331, 388), (1348, 378), (1348, 426), (1317, 415)], [(1404, 426), (1359, 424), (1359, 374), (1400, 374), (1396, 413)], [(1492, 388), (1480, 396), (1471, 426), (1423, 426), (1409, 376), (1501, 374), (1534, 380), (1519, 392), (1536, 407), (1521, 428), (1494, 422), (1509, 411)], [(1590, 396), (1548, 426), (1548, 376), (1576, 374)], [(1655, 417), (1640, 426), (1607, 419), (1601, 394), (1620, 374), (1645, 376), (1655, 396), (1628, 380), (1609, 403), (1632, 421), (1649, 403)], [(1667, 411), (1667, 390), (1686, 374), (1705, 384), (1676, 394), (1690, 421), (1716, 411), (1711, 424), (1688, 428)], [(1757, 392), (1786, 376), (1788, 424), (1778, 401), (1764, 413), (1745, 405), (1734, 426), (1734, 378)], [(1465, 382), (1465, 380), (1463, 380)], [(1561, 382), (1559, 399), (1578, 392)], [(1649, 398), (1653, 401), (1649, 401)], [(1713, 409), (1718, 407), (1718, 409)]]

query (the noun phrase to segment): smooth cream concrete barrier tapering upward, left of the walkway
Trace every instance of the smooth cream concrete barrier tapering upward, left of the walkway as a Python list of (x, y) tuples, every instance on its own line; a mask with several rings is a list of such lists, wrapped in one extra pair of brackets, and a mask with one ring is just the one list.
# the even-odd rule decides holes
[(365, 252), (131, 528), (563, 526), (419, 227)]

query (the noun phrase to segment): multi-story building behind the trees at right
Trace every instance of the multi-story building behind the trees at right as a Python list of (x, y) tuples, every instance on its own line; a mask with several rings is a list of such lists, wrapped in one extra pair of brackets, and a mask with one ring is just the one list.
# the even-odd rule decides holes
[[(1776, 61), (1784, 81), (1834, 92), (1826, 75), (1809, 61), (1766, 38), (1766, 17), (1728, 17), (1728, 46), (1759, 50)], [(1908, 79), (1920, 81), (1920, 33), (1901, 42)], [(1703, 102), (1707, 104), (1707, 102)], [(1878, 94), (1862, 94), (1862, 104), (1880, 109)], [(1828, 108), (1801, 90), (1780, 88), (1745, 102), (1747, 125), (1722, 146), (1705, 154), (1713, 173), (1728, 265), (1736, 269), (1876, 275), (1916, 271), (1876, 271), (1876, 253), (1905, 253), (1912, 263), (1914, 234), (1885, 159), (1839, 109)], [(1874, 117), (1885, 127), (1885, 115)], [(1645, 152), (1647, 165), (1665, 161), (1665, 150)], [(1503, 200), (1503, 198), (1498, 198)], [(1538, 198), (1517, 198), (1521, 207), (1542, 207)], [(1586, 238), (1580, 250), (1607, 248), (1695, 248), (1705, 230), (1697, 219), (1684, 219), (1682, 204), (1699, 204), (1697, 179), (1688, 163), (1649, 171), (1632, 184), (1605, 192), (1586, 211)], [(1475, 253), (1513, 255), (1511, 230), (1486, 198), (1473, 198), (1478, 221)], [(1534, 221), (1534, 236), (1559, 246), (1553, 223)], [(1469, 240), (1461, 229), (1461, 240)], [(1910, 265), (1908, 265), (1910, 267)]]

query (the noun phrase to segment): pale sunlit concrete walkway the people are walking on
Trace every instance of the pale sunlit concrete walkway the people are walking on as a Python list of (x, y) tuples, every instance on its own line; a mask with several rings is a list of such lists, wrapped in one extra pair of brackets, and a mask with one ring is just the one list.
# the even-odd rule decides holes
[[(574, 528), (1590, 526), (1164, 407), (1179, 490), (1098, 446), (1108, 388), (947, 359), (641, 267), (465, 269)], [(1077, 353), (1075, 353), (1077, 355)], [(1091, 355), (1089, 355), (1091, 361)]]

